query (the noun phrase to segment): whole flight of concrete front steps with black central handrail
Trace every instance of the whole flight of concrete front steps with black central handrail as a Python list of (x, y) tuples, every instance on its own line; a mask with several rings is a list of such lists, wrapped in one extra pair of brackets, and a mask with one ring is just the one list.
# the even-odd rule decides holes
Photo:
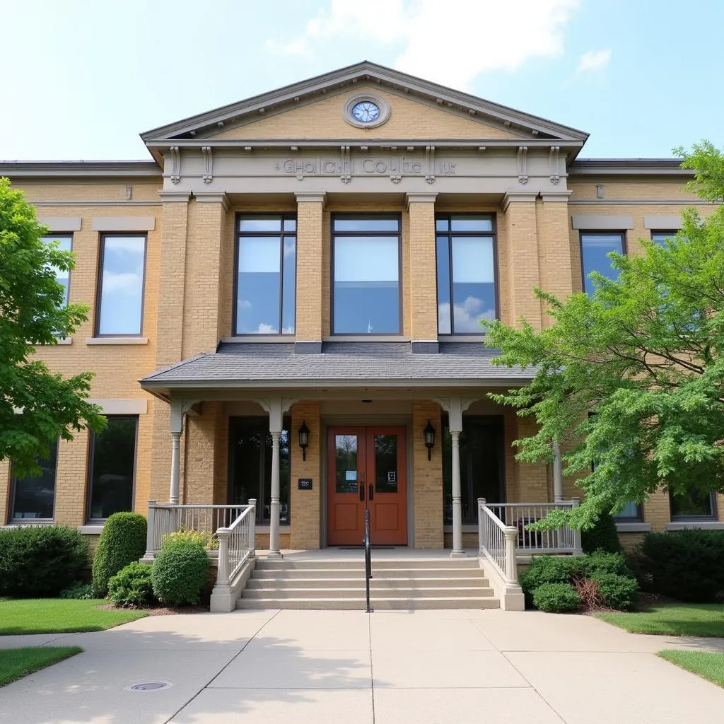
[[(373, 559), (370, 596), (375, 610), (500, 607), (474, 557)], [(364, 610), (363, 557), (259, 557), (237, 608)]]

